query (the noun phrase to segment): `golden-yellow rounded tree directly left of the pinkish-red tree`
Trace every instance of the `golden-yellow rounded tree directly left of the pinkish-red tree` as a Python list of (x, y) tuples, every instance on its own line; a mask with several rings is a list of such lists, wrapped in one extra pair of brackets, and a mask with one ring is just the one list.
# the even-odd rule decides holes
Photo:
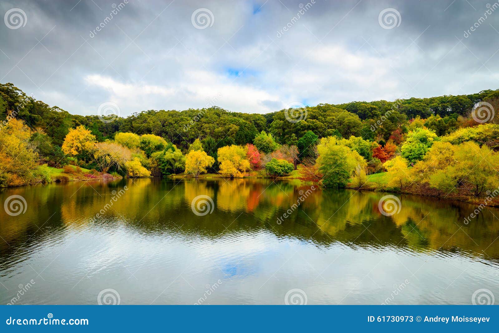
[(224, 177), (243, 178), (243, 172), (250, 170), (246, 150), (235, 144), (218, 149), (220, 174)]

